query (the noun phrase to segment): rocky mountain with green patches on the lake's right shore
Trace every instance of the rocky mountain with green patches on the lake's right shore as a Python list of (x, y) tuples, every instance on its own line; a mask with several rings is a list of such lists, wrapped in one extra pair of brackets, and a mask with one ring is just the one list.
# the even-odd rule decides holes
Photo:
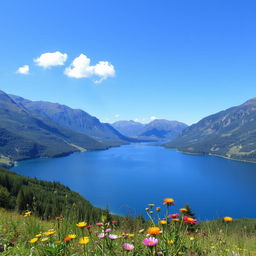
[(203, 118), (166, 147), (256, 161), (256, 98)]

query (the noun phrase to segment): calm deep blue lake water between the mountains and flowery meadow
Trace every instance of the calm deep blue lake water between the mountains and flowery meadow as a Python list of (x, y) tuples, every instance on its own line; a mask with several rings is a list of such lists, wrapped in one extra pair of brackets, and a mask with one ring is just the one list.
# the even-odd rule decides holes
[(18, 163), (12, 170), (58, 181), (93, 205), (117, 214), (145, 214), (148, 203), (189, 203), (199, 219), (256, 217), (256, 164), (187, 155), (151, 144), (74, 153)]

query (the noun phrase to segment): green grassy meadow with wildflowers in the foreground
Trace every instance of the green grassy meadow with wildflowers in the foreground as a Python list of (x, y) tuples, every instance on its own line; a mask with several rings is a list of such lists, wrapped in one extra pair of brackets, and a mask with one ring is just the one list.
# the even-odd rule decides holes
[[(169, 207), (171, 211), (171, 207)], [(158, 213), (152, 207), (153, 219), (161, 212), (166, 213), (165, 207), (161, 207)], [(148, 212), (149, 213), (149, 212)], [(163, 214), (164, 215), (164, 214)], [(163, 216), (161, 216), (163, 217)], [(182, 219), (182, 218), (180, 218)], [(86, 220), (84, 220), (86, 222)], [(90, 229), (78, 228), (72, 216), (63, 218), (61, 221), (43, 221), (38, 217), (24, 217), (12, 211), (0, 209), (0, 251), (1, 255), (256, 255), (256, 220), (239, 219), (230, 223), (223, 220), (201, 222), (195, 225), (168, 221), (166, 225), (153, 223), (152, 221), (137, 221), (130, 218), (121, 218), (117, 223), (107, 222), (104, 216), (98, 220), (103, 226), (98, 227), (95, 223)], [(161, 234), (150, 235), (158, 239), (157, 245), (145, 246), (142, 241), (147, 235), (148, 227), (156, 226), (162, 230)], [(118, 236), (111, 240), (108, 236), (99, 239), (100, 233), (105, 233), (108, 228)], [(54, 230), (53, 234), (45, 234)], [(90, 231), (90, 232), (89, 232)], [(30, 243), (37, 234), (42, 234), (35, 243)], [(69, 242), (64, 239), (74, 234), (76, 238)], [(81, 237), (88, 237), (89, 242), (85, 245), (79, 243)], [(42, 241), (46, 238), (47, 241)], [(43, 239), (44, 240), (44, 239)], [(122, 248), (124, 243), (134, 245), (132, 251), (125, 251)], [(162, 253), (162, 254), (161, 254)]]

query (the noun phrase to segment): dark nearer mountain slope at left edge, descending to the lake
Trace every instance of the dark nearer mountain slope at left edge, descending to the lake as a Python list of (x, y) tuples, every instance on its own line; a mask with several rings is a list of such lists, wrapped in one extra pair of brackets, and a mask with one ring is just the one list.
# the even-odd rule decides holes
[(0, 91), (0, 162), (106, 149), (87, 135), (35, 116)]

